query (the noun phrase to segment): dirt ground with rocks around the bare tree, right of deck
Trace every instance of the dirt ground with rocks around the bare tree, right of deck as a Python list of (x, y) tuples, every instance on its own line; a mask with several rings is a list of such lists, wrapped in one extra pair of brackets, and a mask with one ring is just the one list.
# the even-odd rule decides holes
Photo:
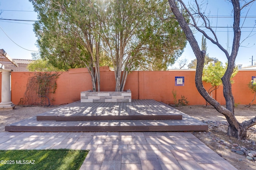
[[(218, 113), (212, 106), (178, 106), (176, 109), (195, 117), (200, 121), (212, 121), (213, 123), (208, 124), (209, 131), (205, 132), (192, 132), (198, 139), (200, 139), (203, 143), (205, 143), (208, 147), (214, 150), (217, 154), (222, 155), (224, 159), (226, 159), (230, 164), (236, 167), (238, 170), (255, 170), (256, 162), (250, 161), (246, 158), (245, 155), (239, 155), (235, 152), (231, 152), (232, 144), (237, 144), (241, 147), (245, 147), (246, 149), (256, 149), (255, 144), (252, 145), (252, 141), (256, 141), (256, 126), (253, 126), (248, 131), (248, 137), (250, 140), (248, 141), (240, 141), (233, 137), (229, 137), (227, 135), (228, 125), (224, 125), (219, 122), (226, 122), (224, 115)], [(251, 119), (256, 116), (256, 106), (245, 107), (243, 105), (238, 105), (235, 108), (235, 116), (236, 119), (240, 123), (245, 120)], [(214, 141), (214, 139), (222, 139), (227, 142), (226, 145), (219, 145), (219, 141)]]

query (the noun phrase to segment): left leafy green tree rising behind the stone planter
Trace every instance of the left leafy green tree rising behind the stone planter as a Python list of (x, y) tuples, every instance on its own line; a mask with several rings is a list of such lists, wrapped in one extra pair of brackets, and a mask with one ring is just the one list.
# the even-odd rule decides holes
[[(30, 0), (38, 12), (34, 31), (40, 56), (65, 69), (85, 65), (93, 91), (100, 91), (100, 1)], [(96, 87), (96, 84), (98, 86)]]

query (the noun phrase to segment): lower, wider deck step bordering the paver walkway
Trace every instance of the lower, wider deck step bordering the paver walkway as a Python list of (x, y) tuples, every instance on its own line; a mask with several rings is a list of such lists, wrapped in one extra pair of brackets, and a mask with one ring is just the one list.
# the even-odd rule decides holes
[(180, 120), (22, 121), (5, 127), (12, 132), (144, 132), (207, 131), (208, 125)]

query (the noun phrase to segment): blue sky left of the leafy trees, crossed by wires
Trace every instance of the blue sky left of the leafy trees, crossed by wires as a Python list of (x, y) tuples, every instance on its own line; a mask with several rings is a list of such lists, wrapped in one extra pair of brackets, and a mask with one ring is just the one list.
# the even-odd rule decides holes
[[(1, 10), (0, 18), (2, 19), (37, 20), (37, 14), (28, 0), (0, 0)], [(33, 23), (30, 21), (0, 20), (0, 26), (12, 41), (25, 49), (38, 51), (35, 45), (37, 38), (33, 31)], [(31, 51), (22, 49), (12, 42), (2, 29), (0, 28), (0, 49), (4, 49), (12, 59), (32, 59)]]

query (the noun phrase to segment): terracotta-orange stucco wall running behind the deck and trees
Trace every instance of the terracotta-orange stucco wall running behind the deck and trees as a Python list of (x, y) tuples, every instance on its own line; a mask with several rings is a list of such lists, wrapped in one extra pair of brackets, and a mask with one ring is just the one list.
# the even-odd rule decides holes
[[(115, 76), (113, 71), (101, 69), (101, 91), (115, 90)], [(24, 98), (26, 84), (34, 72), (12, 72), (12, 102), (18, 104), (20, 98)], [(184, 86), (175, 86), (175, 76), (184, 76)], [(154, 99), (164, 103), (174, 103), (172, 91), (176, 91), (177, 100), (181, 95), (189, 101), (189, 105), (204, 105), (205, 100), (198, 93), (195, 86), (194, 70), (175, 71), (133, 71), (128, 74), (124, 90), (132, 91), (132, 99)], [(234, 77), (232, 91), (235, 102), (248, 104), (254, 94), (247, 84), (256, 76), (256, 71), (241, 70)], [(206, 90), (210, 84), (203, 83)], [(54, 104), (66, 104), (80, 100), (80, 92), (92, 90), (91, 77), (86, 68), (70, 69), (68, 72), (60, 72), (57, 80), (57, 90), (54, 94)], [(220, 86), (212, 97), (222, 105), (225, 104), (223, 88)], [(256, 101), (254, 102), (256, 104)]]

